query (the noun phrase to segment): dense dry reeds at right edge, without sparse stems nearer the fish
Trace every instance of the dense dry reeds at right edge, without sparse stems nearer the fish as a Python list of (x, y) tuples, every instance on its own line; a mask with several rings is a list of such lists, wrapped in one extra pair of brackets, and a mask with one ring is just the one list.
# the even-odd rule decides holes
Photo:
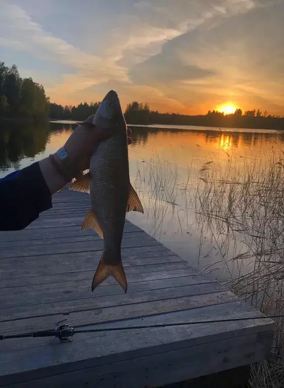
[[(206, 163), (199, 171), (195, 209), (226, 271), (223, 282), (266, 315), (284, 313), (284, 157), (272, 148), (266, 157), (239, 154)], [(284, 386), (284, 319), (275, 319), (267, 362), (253, 365), (251, 387)]]

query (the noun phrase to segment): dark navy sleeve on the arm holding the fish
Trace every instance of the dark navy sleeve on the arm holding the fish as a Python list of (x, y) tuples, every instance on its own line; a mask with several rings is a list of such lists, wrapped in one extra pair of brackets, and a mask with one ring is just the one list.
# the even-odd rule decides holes
[(0, 180), (0, 230), (24, 229), (39, 213), (52, 208), (38, 162), (10, 175)]

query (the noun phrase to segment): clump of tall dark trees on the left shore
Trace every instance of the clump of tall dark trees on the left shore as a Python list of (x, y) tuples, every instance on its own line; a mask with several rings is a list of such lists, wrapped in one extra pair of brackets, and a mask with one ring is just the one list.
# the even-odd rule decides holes
[(49, 115), (44, 87), (32, 78), (21, 78), (16, 65), (0, 62), (0, 118), (44, 119)]

